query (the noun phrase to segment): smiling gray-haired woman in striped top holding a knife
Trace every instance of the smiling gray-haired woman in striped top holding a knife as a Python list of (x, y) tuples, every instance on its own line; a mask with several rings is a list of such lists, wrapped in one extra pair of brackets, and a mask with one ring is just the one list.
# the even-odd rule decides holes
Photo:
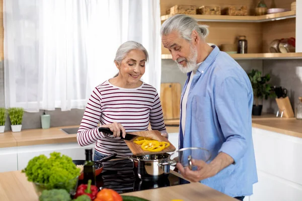
[[(140, 80), (147, 60), (148, 53), (141, 44), (123, 43), (114, 59), (118, 75), (94, 88), (77, 134), (81, 146), (96, 142), (94, 160), (114, 153), (119, 158), (132, 155), (120, 133), (125, 137), (126, 132), (146, 131), (149, 123), (168, 137), (159, 94)], [(113, 135), (99, 132), (98, 123)]]

